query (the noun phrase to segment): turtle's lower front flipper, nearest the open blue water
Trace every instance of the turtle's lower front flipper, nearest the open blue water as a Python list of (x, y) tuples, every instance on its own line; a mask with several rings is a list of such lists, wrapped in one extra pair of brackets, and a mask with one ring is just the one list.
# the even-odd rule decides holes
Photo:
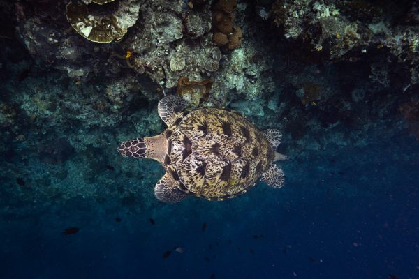
[(188, 193), (184, 193), (176, 187), (175, 179), (167, 172), (154, 187), (154, 195), (159, 201), (170, 204), (180, 202), (182, 199), (189, 197)]

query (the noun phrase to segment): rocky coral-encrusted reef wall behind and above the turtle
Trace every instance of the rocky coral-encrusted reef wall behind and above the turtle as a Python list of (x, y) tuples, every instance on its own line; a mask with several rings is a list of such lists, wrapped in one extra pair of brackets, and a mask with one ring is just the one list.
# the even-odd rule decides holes
[[(163, 214), (152, 190), (163, 169), (116, 149), (163, 130), (157, 102), (183, 77), (212, 82), (188, 95), (196, 105), (282, 130), (291, 185), (307, 179), (301, 166), (314, 158), (349, 166), (351, 158), (337, 158), (349, 147), (408, 133), (418, 144), (415, 1), (17, 0), (0, 8), (0, 223), (75, 199), (109, 214)], [(388, 156), (419, 156), (398, 158), (397, 149)]]

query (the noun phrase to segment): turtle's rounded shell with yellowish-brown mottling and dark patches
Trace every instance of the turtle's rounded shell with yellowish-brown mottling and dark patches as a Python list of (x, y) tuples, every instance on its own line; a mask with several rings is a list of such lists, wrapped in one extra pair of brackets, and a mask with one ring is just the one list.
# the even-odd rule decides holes
[(184, 112), (166, 135), (166, 169), (180, 190), (206, 199), (246, 192), (274, 160), (274, 149), (263, 133), (236, 112)]

